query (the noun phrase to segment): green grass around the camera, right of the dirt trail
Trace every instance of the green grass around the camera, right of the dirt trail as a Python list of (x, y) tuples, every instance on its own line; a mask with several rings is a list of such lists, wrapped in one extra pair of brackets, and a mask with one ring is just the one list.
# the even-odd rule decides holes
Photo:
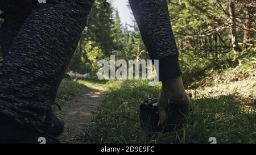
[(148, 132), (139, 122), (139, 105), (158, 97), (160, 85), (146, 81), (112, 81), (105, 100), (94, 116), (94, 125), (82, 129), (80, 137), (93, 143), (256, 143), (253, 104), (242, 106), (236, 93), (213, 97), (192, 94), (192, 111), (182, 128), (171, 133)]

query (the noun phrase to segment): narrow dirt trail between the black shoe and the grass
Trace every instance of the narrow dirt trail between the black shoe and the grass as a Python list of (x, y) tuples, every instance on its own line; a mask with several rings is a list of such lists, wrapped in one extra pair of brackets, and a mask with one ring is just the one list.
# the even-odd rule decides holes
[(77, 139), (77, 133), (84, 125), (92, 122), (92, 114), (102, 102), (103, 91), (90, 89), (80, 97), (61, 103), (59, 115), (65, 121), (64, 132), (58, 137), (61, 143), (84, 143)]

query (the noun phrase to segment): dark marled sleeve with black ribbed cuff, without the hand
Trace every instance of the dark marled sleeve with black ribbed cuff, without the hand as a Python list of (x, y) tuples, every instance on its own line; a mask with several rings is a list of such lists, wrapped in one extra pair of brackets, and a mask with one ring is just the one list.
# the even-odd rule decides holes
[(159, 80), (181, 76), (166, 0), (129, 0), (151, 60), (159, 60)]

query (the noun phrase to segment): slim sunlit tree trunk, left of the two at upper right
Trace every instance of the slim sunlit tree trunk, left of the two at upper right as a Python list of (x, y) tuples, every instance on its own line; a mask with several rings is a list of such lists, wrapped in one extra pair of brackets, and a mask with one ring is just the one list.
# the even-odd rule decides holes
[(236, 23), (235, 23), (235, 7), (233, 0), (229, 0), (229, 18), (230, 18), (230, 24), (231, 24), (231, 42), (232, 47), (234, 51), (237, 51), (238, 49), (238, 40), (237, 40), (237, 31), (236, 31)]

